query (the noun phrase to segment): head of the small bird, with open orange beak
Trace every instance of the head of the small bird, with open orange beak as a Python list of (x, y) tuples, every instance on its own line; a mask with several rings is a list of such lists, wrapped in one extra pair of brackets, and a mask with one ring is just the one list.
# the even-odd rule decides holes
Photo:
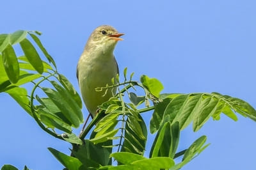
[(92, 32), (86, 46), (93, 50), (113, 52), (116, 43), (123, 40), (120, 38), (122, 35), (124, 33), (118, 33), (112, 26), (99, 26)]

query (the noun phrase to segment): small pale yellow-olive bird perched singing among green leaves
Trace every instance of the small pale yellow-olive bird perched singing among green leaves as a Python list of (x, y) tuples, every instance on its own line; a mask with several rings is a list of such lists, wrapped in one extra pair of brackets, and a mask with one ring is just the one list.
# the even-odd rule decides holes
[(105, 91), (95, 91), (95, 88), (112, 84), (111, 79), (119, 74), (118, 64), (113, 51), (120, 36), (112, 26), (97, 27), (88, 38), (83, 53), (77, 63), (77, 80), (86, 108), (92, 118), (97, 114), (98, 106), (113, 97), (116, 88)]

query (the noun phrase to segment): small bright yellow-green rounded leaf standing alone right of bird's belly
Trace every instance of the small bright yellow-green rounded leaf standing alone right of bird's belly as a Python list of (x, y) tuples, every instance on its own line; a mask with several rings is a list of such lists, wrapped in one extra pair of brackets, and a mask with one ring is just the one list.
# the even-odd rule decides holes
[(156, 78), (147, 77), (147, 75), (142, 75), (140, 78), (142, 85), (152, 93), (155, 97), (159, 97), (160, 92), (163, 90), (163, 84)]

